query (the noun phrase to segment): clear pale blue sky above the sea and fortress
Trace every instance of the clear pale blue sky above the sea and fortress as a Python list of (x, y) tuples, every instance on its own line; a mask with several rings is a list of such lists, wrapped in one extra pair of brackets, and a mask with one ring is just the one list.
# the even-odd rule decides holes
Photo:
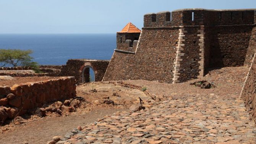
[(0, 33), (115, 33), (181, 8), (256, 8), (256, 0), (0, 0)]

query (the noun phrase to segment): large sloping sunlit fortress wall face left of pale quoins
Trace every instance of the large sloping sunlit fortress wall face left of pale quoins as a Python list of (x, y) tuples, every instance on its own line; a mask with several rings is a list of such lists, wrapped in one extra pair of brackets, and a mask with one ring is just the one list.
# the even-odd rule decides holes
[(103, 81), (146, 79), (172, 82), (178, 28), (143, 28), (135, 54), (114, 52)]

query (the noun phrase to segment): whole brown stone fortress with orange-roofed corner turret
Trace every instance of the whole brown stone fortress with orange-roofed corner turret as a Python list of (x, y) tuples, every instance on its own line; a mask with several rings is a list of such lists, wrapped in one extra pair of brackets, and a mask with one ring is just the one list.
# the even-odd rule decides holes
[(256, 47), (255, 23), (255, 9), (146, 14), (142, 31), (129, 23), (117, 32), (103, 81), (179, 83), (203, 77), (208, 68), (248, 66)]

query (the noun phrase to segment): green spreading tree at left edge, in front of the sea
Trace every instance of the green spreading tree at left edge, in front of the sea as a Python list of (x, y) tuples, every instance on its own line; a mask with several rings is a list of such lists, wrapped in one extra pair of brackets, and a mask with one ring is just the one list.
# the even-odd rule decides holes
[(32, 61), (32, 50), (0, 49), (0, 66), (30, 66), (40, 72), (37, 62)]

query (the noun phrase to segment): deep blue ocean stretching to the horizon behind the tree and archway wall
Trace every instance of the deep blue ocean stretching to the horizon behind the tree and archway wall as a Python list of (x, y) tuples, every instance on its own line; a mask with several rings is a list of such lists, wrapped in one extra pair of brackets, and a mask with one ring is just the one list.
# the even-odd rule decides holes
[(39, 65), (65, 65), (68, 59), (110, 60), (116, 34), (0, 34), (0, 49), (33, 51)]

